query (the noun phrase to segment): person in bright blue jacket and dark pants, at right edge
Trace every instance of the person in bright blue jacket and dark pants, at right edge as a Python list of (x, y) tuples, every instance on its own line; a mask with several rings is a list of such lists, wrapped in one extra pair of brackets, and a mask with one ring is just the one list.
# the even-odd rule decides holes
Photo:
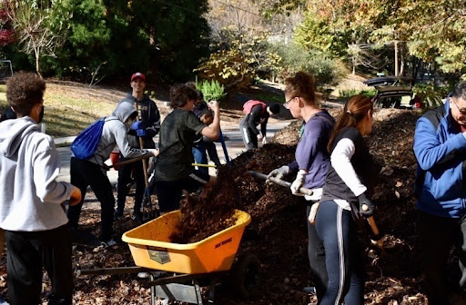
[[(420, 117), (413, 148), (425, 290), (430, 304), (452, 304), (458, 295), (454, 290), (466, 283), (466, 82), (444, 105)], [(453, 244), (461, 252), (461, 280), (451, 285), (445, 279)]]

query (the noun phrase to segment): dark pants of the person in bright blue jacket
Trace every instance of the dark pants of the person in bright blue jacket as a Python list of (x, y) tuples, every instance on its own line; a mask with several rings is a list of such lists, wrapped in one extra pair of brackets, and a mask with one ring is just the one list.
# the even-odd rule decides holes
[(459, 250), (461, 280), (454, 283), (453, 289), (466, 284), (466, 215), (461, 219), (434, 216), (418, 212), (421, 267), (424, 271), (424, 287), (430, 304), (444, 304), (451, 284), (446, 267), (451, 247)]

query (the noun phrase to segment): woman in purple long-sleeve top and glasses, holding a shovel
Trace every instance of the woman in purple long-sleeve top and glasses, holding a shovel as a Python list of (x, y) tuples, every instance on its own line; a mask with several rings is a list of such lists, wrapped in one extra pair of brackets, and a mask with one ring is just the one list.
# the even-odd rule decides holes
[[(268, 177), (281, 178), (287, 174), (296, 174), (290, 190), (297, 196), (300, 187), (313, 191), (312, 196), (304, 196), (308, 205), (307, 217), (312, 204), (319, 201), (325, 176), (330, 166), (330, 156), (327, 151), (329, 136), (335, 120), (325, 110), (321, 109), (316, 100), (315, 83), (312, 75), (299, 72), (286, 80), (285, 107), (293, 117), (303, 120), (304, 126), (295, 153), (295, 162), (283, 165), (268, 174)], [(327, 290), (327, 271), (325, 267), (325, 252), (319, 241), (316, 229), (308, 222), (308, 255), (312, 278), (318, 298)]]

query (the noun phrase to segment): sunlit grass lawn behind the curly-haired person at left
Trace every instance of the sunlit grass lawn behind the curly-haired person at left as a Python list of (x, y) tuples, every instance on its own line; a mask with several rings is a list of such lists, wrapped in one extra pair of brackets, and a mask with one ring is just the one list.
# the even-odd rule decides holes
[[(0, 84), (0, 110), (8, 106), (5, 96), (6, 86)], [(124, 93), (121, 93), (122, 98)], [(44, 96), (46, 106), (44, 123), (46, 133), (53, 137), (76, 135), (97, 118), (113, 113), (117, 107), (117, 97), (92, 92), (86, 87), (47, 84)]]

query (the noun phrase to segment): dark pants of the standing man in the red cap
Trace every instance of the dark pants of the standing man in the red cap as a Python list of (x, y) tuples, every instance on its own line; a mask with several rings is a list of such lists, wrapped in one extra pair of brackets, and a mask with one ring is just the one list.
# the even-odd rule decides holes
[[(119, 162), (127, 161), (120, 153)], [(134, 170), (134, 171), (133, 171)], [(144, 190), (146, 189), (146, 181), (144, 177), (144, 168), (142, 161), (129, 163), (120, 166), (118, 169), (118, 186), (117, 186), (117, 212), (123, 214), (125, 210), (125, 203), (127, 202), (127, 184), (131, 181), (131, 172), (134, 173), (136, 181), (136, 194), (135, 194), (135, 212), (141, 212), (141, 203), (144, 198)]]

